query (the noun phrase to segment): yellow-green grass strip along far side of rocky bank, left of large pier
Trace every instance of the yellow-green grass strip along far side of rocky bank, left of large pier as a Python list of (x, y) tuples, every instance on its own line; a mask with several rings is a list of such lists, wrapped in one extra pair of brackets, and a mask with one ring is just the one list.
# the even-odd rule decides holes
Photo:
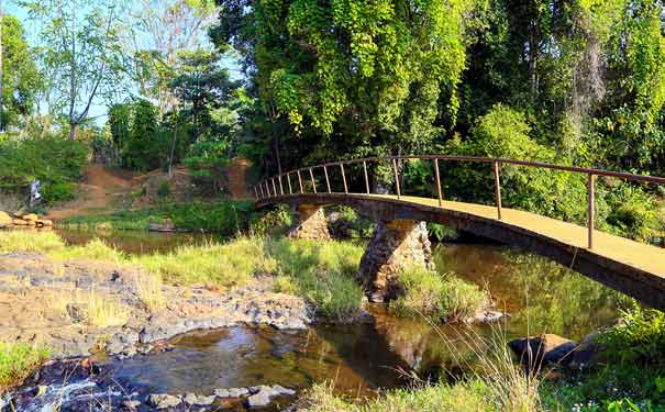
[(343, 242), (237, 237), (228, 243), (182, 246), (168, 254), (128, 256), (102, 241), (66, 246), (51, 232), (0, 233), (0, 252), (43, 252), (58, 260), (96, 259), (136, 265), (153, 278), (140, 278), (141, 300), (162, 308), (162, 280), (173, 285), (214, 283), (221, 288), (246, 285), (259, 275), (275, 276), (276, 289), (300, 294), (322, 314), (339, 321), (353, 319), (363, 290), (355, 275), (363, 247)]

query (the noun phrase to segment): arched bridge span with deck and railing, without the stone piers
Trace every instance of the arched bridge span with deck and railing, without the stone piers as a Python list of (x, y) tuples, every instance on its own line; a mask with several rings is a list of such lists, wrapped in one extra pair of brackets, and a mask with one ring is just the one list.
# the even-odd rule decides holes
[[(396, 160), (402, 158), (423, 158), (433, 162), (439, 199), (401, 194)], [(295, 208), (302, 208), (302, 205), (323, 208), (332, 204), (344, 204), (380, 222), (442, 223), (551, 258), (650, 307), (665, 310), (665, 249), (602, 233), (594, 227), (594, 182), (597, 176), (612, 176), (660, 185), (665, 183), (665, 178), (512, 159), (458, 156), (394, 156), (380, 160), (385, 162), (386, 159), (394, 163), (396, 174), (394, 194), (370, 193), (366, 164), (375, 159), (355, 159), (299, 169), (265, 180), (254, 188), (256, 207), (263, 208), (276, 203), (287, 203)], [(496, 205), (443, 200), (439, 175), (439, 162), (441, 159), (491, 163), (494, 166)], [(364, 193), (348, 191), (344, 176), (344, 165), (351, 163), (362, 163), (364, 166), (366, 182)], [(502, 208), (499, 171), (501, 164), (517, 164), (586, 174), (589, 182), (587, 226), (583, 227), (530, 212)], [(329, 167), (341, 168), (344, 179), (343, 192), (331, 190), (326, 171)], [(323, 168), (325, 171), (328, 183), (325, 189), (328, 190), (321, 191), (320, 185), (319, 191), (317, 190), (317, 182), (311, 174), (314, 168)], [(311, 177), (309, 192), (302, 183), (303, 170)], [(291, 190), (285, 191), (282, 180), (290, 179), (291, 175), (298, 176), (299, 185), (293, 190), (293, 186), (289, 182)]]

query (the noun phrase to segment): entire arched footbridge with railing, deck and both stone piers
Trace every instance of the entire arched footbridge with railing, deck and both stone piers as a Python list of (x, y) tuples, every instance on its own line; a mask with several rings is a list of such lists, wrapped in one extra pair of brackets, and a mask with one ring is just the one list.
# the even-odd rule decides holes
[[(399, 163), (412, 158), (431, 162), (437, 199), (402, 194)], [(444, 200), (439, 167), (442, 162), (491, 164), (496, 205)], [(372, 163), (391, 166), (396, 181), (392, 194), (377, 194), (370, 191), (367, 165)], [(364, 188), (359, 192), (350, 190), (350, 179), (346, 175), (351, 165), (363, 170), (362, 179), (355, 179), (356, 186), (358, 181), (364, 180)], [(586, 175), (586, 227), (502, 208), (502, 165)], [(341, 176), (341, 191), (331, 187), (329, 172), (333, 170)], [(426, 155), (342, 160), (307, 167), (264, 180), (253, 190), (257, 208), (286, 203), (299, 211), (300, 223), (292, 232), (296, 237), (328, 236), (322, 213), (322, 208), (326, 205), (348, 205), (378, 222), (359, 270), (359, 277), (365, 281), (368, 296), (374, 301), (394, 297), (401, 265), (430, 265), (430, 245), (424, 224), (421, 222), (434, 222), (548, 257), (650, 307), (665, 310), (665, 248), (595, 230), (595, 182), (598, 176), (665, 185), (665, 178), (625, 172), (506, 158)]]

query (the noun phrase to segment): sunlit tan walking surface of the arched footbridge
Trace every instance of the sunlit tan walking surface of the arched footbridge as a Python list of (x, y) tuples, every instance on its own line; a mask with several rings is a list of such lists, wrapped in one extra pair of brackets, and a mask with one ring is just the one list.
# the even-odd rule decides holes
[[(353, 197), (354, 194), (347, 194)], [(362, 194), (397, 201), (391, 194)], [(439, 200), (402, 196), (400, 201), (439, 208)], [(490, 205), (444, 201), (443, 209), (473, 214), (476, 216), (496, 220), (497, 208)], [(535, 213), (514, 209), (501, 209), (501, 223), (514, 225), (541, 236), (545, 236), (573, 247), (587, 248), (587, 229), (562, 222), (555, 219), (541, 216)], [(632, 266), (652, 275), (665, 278), (665, 248), (646, 245), (609, 233), (594, 232), (594, 248), (588, 250), (611, 260)]]

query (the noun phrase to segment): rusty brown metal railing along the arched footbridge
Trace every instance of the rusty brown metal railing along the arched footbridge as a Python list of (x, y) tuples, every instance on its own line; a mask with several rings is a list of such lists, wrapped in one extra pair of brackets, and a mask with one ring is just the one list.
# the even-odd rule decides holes
[[(385, 157), (366, 157), (366, 158), (355, 158), (355, 159), (346, 159), (346, 160), (337, 160), (325, 163), (315, 166), (303, 167), (300, 169), (295, 169), (291, 171), (287, 171), (285, 174), (265, 179), (254, 186), (253, 191), (254, 196), (257, 200), (269, 199), (269, 198), (278, 198), (284, 196), (297, 196), (301, 193), (308, 192), (307, 190), (307, 181), (311, 183), (311, 192), (328, 192), (333, 193), (331, 189), (330, 178), (329, 178), (329, 169), (330, 168), (340, 168), (340, 174), (342, 177), (343, 185), (343, 193), (345, 194), (372, 194), (369, 189), (369, 175), (367, 172), (367, 164), (368, 163), (379, 163), (379, 162), (388, 162), (391, 165), (392, 172), (395, 175), (395, 191), (398, 200), (402, 198), (402, 188), (400, 187), (400, 170), (398, 167), (398, 160), (406, 159), (421, 159), (421, 160), (432, 160), (434, 168), (434, 179), (436, 186), (436, 192), (439, 198), (439, 207), (443, 207), (443, 190), (441, 185), (441, 174), (439, 168), (440, 162), (475, 162), (475, 163), (487, 163), (491, 164), (494, 180), (495, 180), (495, 203), (497, 207), (497, 219), (501, 220), (501, 165), (516, 165), (516, 166), (527, 166), (533, 168), (544, 168), (551, 170), (559, 170), (559, 171), (570, 171), (575, 174), (587, 175), (587, 229), (588, 229), (588, 247), (592, 248), (594, 246), (594, 230), (595, 230), (595, 209), (596, 209), (596, 178), (598, 176), (607, 176), (619, 178), (623, 180), (632, 180), (632, 181), (641, 181), (641, 182), (650, 182), (656, 185), (665, 185), (665, 178), (655, 177), (655, 176), (644, 176), (644, 175), (633, 175), (629, 172), (621, 171), (609, 171), (609, 170), (600, 170), (600, 169), (590, 169), (585, 167), (576, 167), (576, 166), (561, 166), (554, 165), (544, 162), (528, 162), (528, 160), (517, 160), (510, 158), (501, 158), (501, 157), (476, 157), (476, 156), (448, 156), (448, 155), (407, 155), (407, 156), (385, 156)], [(365, 192), (350, 192), (348, 183), (345, 172), (345, 166), (350, 165), (363, 165), (363, 177), (365, 182)], [(313, 171), (317, 169), (323, 169), (323, 175), (325, 177), (325, 188), (317, 187), (317, 180), (314, 179)], [(291, 177), (293, 177), (293, 181), (291, 181)], [(303, 183), (306, 181), (306, 183)], [(321, 190), (323, 189), (323, 190)]]

